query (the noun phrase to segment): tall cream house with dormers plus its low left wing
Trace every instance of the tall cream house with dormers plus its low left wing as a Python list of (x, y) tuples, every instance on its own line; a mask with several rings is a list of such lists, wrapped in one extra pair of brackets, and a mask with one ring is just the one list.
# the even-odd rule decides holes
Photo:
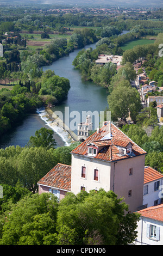
[[(97, 129), (71, 154), (71, 167), (57, 164), (37, 182), (39, 193), (54, 190), (61, 199), (66, 191), (77, 194), (82, 189), (89, 192), (104, 188), (105, 191), (112, 190), (118, 197), (123, 197), (129, 205), (129, 212), (140, 209), (143, 202), (146, 151), (114, 124), (105, 122), (101, 129)], [(65, 168), (67, 175), (63, 172)]]

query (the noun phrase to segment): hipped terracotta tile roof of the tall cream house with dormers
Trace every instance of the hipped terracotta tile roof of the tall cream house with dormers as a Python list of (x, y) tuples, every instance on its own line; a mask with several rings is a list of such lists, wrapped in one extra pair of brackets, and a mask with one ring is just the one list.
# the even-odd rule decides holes
[[(132, 145), (133, 153), (135, 156), (146, 154), (146, 151), (141, 149), (136, 143), (131, 141), (131, 139), (125, 135), (120, 129), (118, 129), (114, 124), (111, 123), (111, 135), (109, 139), (104, 139), (104, 136), (109, 134), (109, 124), (104, 125), (99, 129), (99, 132), (93, 133), (89, 138), (87, 138), (83, 143), (78, 145), (78, 147), (72, 150), (72, 154), (87, 155), (87, 145), (93, 143), (97, 147), (103, 147), (103, 149), (98, 151), (98, 154), (94, 156), (95, 159), (100, 159), (104, 161), (117, 161), (122, 159), (127, 159), (131, 156), (120, 155), (118, 147), (126, 148), (130, 143)], [(132, 157), (134, 156), (132, 155)]]

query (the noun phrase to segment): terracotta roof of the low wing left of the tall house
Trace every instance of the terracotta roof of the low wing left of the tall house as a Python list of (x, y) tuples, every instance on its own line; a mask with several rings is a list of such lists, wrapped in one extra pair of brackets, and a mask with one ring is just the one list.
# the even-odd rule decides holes
[(71, 166), (58, 163), (37, 183), (71, 191)]

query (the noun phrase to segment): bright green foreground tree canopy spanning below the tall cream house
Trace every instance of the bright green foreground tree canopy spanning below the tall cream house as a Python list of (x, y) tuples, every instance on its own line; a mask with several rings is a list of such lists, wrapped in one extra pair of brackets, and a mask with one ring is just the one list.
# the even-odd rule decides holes
[(68, 192), (59, 204), (52, 193), (29, 194), (4, 213), (0, 245), (128, 245), (139, 215), (127, 210), (122, 198), (102, 189)]

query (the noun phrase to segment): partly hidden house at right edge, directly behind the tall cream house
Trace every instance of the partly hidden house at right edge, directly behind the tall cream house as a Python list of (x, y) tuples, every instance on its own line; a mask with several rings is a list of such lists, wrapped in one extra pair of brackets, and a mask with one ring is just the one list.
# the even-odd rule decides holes
[(163, 174), (150, 166), (145, 166), (143, 205), (149, 206), (162, 203), (160, 196), (163, 185)]

